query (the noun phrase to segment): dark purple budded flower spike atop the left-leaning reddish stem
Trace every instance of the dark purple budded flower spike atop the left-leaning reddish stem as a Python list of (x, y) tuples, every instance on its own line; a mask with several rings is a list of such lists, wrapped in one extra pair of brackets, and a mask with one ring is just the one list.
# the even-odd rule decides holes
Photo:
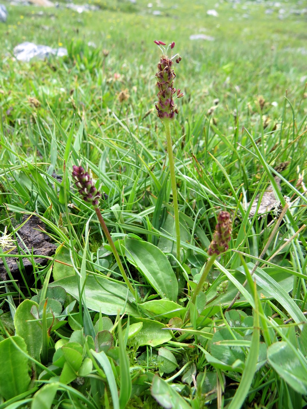
[(101, 194), (95, 188), (92, 176), (84, 170), (82, 166), (72, 166), (72, 178), (83, 200), (92, 202), (95, 208), (98, 208)]

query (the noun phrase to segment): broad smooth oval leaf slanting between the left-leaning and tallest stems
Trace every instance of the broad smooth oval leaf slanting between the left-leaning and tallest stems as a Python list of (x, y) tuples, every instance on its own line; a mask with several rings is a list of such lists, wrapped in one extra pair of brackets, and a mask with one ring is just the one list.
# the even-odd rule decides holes
[(152, 285), (161, 298), (176, 301), (178, 282), (167, 256), (147, 241), (125, 238), (126, 258)]

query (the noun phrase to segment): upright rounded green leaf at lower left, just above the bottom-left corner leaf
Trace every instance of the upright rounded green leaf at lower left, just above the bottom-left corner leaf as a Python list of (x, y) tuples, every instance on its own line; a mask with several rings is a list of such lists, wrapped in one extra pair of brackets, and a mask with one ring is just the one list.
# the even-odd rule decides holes
[(40, 361), (41, 349), (43, 344), (43, 330), (38, 321), (33, 321), (31, 308), (38, 304), (31, 300), (24, 300), (17, 307), (14, 324), (16, 335), (24, 339), (27, 345), (27, 351), (32, 358)]

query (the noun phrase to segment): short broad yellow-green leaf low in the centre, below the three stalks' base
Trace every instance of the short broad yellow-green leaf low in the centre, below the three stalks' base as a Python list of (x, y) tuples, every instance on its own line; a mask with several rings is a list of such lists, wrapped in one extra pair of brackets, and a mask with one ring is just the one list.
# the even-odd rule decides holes
[[(135, 319), (130, 319), (132, 324), (134, 321)], [(129, 340), (130, 345), (136, 347), (142, 345), (157, 346), (172, 339), (170, 331), (165, 329), (165, 325), (161, 322), (147, 318), (138, 318), (138, 322), (142, 322), (143, 326), (140, 332)]]

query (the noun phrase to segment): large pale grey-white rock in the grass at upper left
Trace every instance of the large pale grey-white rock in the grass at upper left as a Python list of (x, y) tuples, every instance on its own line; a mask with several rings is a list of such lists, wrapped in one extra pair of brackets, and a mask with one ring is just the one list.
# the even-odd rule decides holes
[(14, 48), (14, 56), (19, 61), (29, 62), (32, 58), (43, 60), (51, 55), (63, 57), (67, 55), (67, 49), (60, 47), (58, 49), (48, 47), (47, 45), (36, 45), (34, 43), (21, 43)]

